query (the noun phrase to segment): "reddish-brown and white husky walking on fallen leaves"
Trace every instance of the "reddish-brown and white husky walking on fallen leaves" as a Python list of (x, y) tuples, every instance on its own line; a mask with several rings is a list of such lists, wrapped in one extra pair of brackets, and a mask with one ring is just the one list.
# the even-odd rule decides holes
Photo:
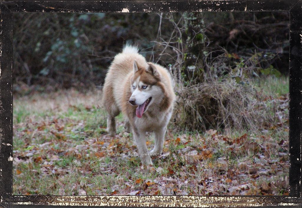
[[(126, 45), (111, 63), (103, 92), (109, 135), (115, 135), (115, 116), (121, 111), (126, 132), (132, 130), (142, 163), (153, 164), (148, 153), (162, 153), (175, 100), (169, 72), (158, 64), (147, 63), (137, 47)], [(155, 146), (148, 152), (146, 132), (151, 131), (155, 134)]]

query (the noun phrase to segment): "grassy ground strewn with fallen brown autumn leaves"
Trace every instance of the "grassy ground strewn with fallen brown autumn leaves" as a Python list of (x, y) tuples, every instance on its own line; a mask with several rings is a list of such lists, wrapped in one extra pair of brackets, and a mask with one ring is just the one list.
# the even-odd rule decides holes
[[(106, 134), (101, 92), (14, 96), (13, 193), (287, 195), (288, 94), (266, 99), (276, 106), (276, 125), (223, 133), (175, 132), (170, 125), (163, 154), (144, 167), (128, 155), (136, 146), (122, 115), (117, 135)], [(152, 134), (147, 145), (153, 148)], [(126, 155), (108, 156), (113, 152)]]

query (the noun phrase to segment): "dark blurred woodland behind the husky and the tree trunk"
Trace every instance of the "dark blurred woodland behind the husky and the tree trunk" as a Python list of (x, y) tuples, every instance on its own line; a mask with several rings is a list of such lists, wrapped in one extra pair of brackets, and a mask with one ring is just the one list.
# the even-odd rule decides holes
[[(126, 41), (138, 45), (147, 60), (158, 61), (164, 47), (159, 39), (169, 40), (173, 22), (182, 18), (180, 13), (171, 16), (173, 20), (166, 14), (160, 18), (160, 14), (147, 13), (14, 14), (14, 91), (101, 86), (114, 55)], [(245, 60), (260, 52), (265, 60), (260, 67), (272, 65), (288, 74), (287, 11), (205, 12), (202, 18), (206, 50), (216, 51), (212, 56), (221, 54), (217, 51), (221, 47)], [(188, 31), (181, 32), (185, 43)], [(173, 51), (167, 48), (165, 53)], [(159, 63), (169, 68), (175, 60), (164, 56)]]

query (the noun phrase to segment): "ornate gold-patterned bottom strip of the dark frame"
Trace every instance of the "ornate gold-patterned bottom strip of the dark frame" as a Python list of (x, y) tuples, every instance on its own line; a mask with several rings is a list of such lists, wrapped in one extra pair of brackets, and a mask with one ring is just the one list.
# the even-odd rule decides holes
[(282, 196), (11, 196), (5, 201), (18, 205), (114, 207), (302, 206), (300, 198)]

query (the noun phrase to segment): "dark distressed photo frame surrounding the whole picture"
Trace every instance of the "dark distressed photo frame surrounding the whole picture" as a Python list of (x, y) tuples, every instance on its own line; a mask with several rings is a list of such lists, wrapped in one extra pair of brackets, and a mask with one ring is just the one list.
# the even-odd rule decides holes
[[(289, 11), (289, 196), (14, 196), (13, 13), (14, 12)], [(247, 207), (302, 206), (302, 0), (199, 1), (3, 1), (0, 38), (0, 206)]]

